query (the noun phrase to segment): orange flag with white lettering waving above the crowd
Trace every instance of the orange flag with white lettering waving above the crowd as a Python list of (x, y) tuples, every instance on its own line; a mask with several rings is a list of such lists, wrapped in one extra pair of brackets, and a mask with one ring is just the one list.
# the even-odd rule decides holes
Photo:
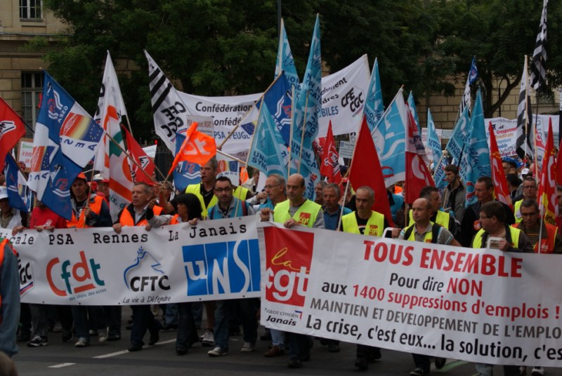
[(192, 123), (187, 133), (185, 133), (185, 140), (181, 145), (180, 151), (176, 154), (176, 158), (174, 158), (174, 163), (171, 164), (168, 175), (171, 175), (174, 168), (176, 168), (178, 163), (181, 161), (197, 163), (203, 166), (215, 155), (215, 139), (204, 133), (198, 132), (197, 123)]

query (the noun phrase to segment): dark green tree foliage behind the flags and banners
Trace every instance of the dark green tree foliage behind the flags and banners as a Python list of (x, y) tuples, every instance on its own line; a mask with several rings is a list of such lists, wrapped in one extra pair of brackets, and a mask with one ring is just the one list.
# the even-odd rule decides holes
[[(69, 25), (58, 48), (46, 55), (48, 72), (93, 113), (105, 51), (114, 62), (126, 62), (129, 72), (118, 70), (119, 83), (136, 136), (152, 134), (144, 49), (187, 93), (257, 93), (273, 80), (275, 0), (44, 0), (44, 5)], [(364, 53), (371, 64), (378, 57), (387, 103), (402, 85), (418, 99), (451, 95), (450, 78), (464, 82), (476, 55), (489, 116), (518, 88), (541, 7), (542, 1), (528, 0), (284, 0), (282, 15), (301, 77), (320, 12), (327, 66), (335, 72)], [(548, 80), (554, 87), (562, 81), (558, 2), (550, 2), (548, 20)], [(33, 41), (30, 48), (45, 46)], [(507, 89), (495, 100), (500, 81)]]

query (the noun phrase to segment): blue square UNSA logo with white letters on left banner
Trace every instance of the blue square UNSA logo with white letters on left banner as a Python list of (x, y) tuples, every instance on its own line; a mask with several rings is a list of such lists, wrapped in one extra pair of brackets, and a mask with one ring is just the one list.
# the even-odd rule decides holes
[(257, 239), (183, 246), (188, 295), (259, 291)]

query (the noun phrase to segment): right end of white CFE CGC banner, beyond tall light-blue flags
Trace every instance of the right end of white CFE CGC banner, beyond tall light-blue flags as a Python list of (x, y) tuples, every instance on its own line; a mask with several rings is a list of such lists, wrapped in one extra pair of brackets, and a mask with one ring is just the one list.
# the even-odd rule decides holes
[(362, 55), (344, 69), (322, 77), (322, 111), (318, 118), (318, 137), (328, 133), (329, 121), (332, 121), (334, 135), (359, 130), (370, 76), (367, 55)]

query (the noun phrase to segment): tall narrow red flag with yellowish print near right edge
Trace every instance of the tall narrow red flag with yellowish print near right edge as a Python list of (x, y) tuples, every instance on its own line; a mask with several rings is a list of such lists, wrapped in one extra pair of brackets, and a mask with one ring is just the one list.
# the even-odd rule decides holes
[(549, 133), (547, 145), (544, 149), (542, 159), (542, 170), (540, 172), (539, 199), (540, 215), (544, 222), (556, 226), (556, 171), (554, 163), (554, 138), (552, 136), (552, 120), (549, 121)]

